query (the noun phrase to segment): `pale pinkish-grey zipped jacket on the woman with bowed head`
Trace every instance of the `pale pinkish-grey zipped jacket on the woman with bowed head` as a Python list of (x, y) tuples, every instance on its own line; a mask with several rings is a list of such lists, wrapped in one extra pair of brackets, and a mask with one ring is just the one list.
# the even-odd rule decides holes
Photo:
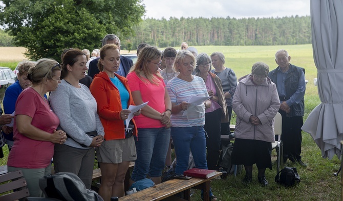
[[(275, 142), (274, 117), (280, 108), (280, 99), (269, 77), (261, 85), (252, 82), (251, 74), (240, 78), (232, 108), (237, 115), (235, 137)], [(261, 124), (250, 124), (251, 115), (259, 117)]]

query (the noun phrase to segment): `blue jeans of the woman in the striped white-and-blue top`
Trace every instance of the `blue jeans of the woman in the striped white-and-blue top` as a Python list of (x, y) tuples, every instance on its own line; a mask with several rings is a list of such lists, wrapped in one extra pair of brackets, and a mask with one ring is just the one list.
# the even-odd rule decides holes
[(175, 172), (183, 174), (188, 167), (189, 149), (196, 168), (207, 169), (206, 138), (203, 126), (171, 127), (176, 159)]

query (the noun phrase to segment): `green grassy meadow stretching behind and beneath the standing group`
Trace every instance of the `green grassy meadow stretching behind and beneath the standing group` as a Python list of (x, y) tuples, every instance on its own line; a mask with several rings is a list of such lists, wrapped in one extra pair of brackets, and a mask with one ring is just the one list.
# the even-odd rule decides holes
[[(251, 72), (251, 66), (255, 62), (265, 62), (270, 70), (276, 68), (274, 54), (279, 49), (285, 49), (291, 56), (292, 64), (303, 67), (306, 70), (305, 77), (309, 81), (305, 94), (305, 116), (320, 103), (317, 87), (313, 79), (317, 77), (317, 70), (313, 61), (312, 45), (291, 45), (291, 46), (195, 46), (199, 53), (223, 52), (225, 55), (225, 67), (231, 68), (237, 77), (244, 76)], [(175, 47), (180, 49), (180, 47)], [(13, 48), (11, 51), (14, 51)], [(17, 48), (17, 53), (0, 57), (0, 66), (14, 68), (16, 64), (24, 59), (23, 48)], [(163, 48), (161, 48), (162, 50)], [(6, 50), (0, 48), (2, 53)], [(122, 53), (127, 53), (122, 51)], [(132, 51), (131, 53), (134, 53)], [(18, 56), (19, 54), (19, 57)], [(13, 56), (13, 58), (11, 57)], [(14, 67), (13, 67), (14, 66)], [(233, 116), (231, 124), (234, 124)], [(4, 148), (5, 157), (0, 164), (6, 164), (8, 149)], [(272, 151), (273, 162), (276, 159), (276, 152)], [(308, 167), (304, 168), (290, 162), (286, 166), (297, 167), (301, 176), (301, 183), (296, 187), (285, 188), (274, 182), (276, 164), (273, 163), (273, 170), (267, 169), (266, 177), (269, 185), (260, 186), (257, 182), (257, 168), (253, 169), (253, 182), (248, 185), (242, 184), (244, 170), (237, 177), (229, 175), (226, 179), (215, 179), (211, 183), (213, 193), (222, 201), (227, 200), (340, 200), (340, 176), (335, 177), (340, 166), (339, 159), (335, 156), (332, 160), (321, 157), (321, 152), (310, 134), (303, 132), (303, 161)], [(201, 200), (200, 192), (191, 197), (192, 201)]]

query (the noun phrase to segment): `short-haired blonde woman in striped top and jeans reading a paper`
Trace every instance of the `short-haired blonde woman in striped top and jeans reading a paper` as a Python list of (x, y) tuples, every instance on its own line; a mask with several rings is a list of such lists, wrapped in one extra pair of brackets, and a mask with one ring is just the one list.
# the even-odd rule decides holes
[[(188, 103), (192, 96), (208, 97), (203, 79), (192, 75), (195, 65), (196, 58), (190, 51), (179, 51), (174, 70), (180, 74), (167, 84), (173, 106), (170, 119), (171, 138), (177, 155), (175, 172), (178, 174), (187, 170), (189, 150), (194, 157), (196, 168), (207, 169), (204, 124), (205, 110), (211, 107), (211, 101), (207, 99), (199, 105)], [(217, 200), (212, 191), (209, 192), (209, 197), (211, 201)]]

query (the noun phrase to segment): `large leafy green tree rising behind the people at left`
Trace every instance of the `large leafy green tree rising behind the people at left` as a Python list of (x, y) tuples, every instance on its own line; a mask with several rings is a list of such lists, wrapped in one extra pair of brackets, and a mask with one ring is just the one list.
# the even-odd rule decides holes
[[(31, 59), (59, 61), (63, 49), (94, 49), (115, 33), (125, 39), (141, 22), (141, 0), (3, 0), (0, 24), (13, 35), (14, 44), (26, 47)], [(123, 40), (124, 41), (124, 40)]]

